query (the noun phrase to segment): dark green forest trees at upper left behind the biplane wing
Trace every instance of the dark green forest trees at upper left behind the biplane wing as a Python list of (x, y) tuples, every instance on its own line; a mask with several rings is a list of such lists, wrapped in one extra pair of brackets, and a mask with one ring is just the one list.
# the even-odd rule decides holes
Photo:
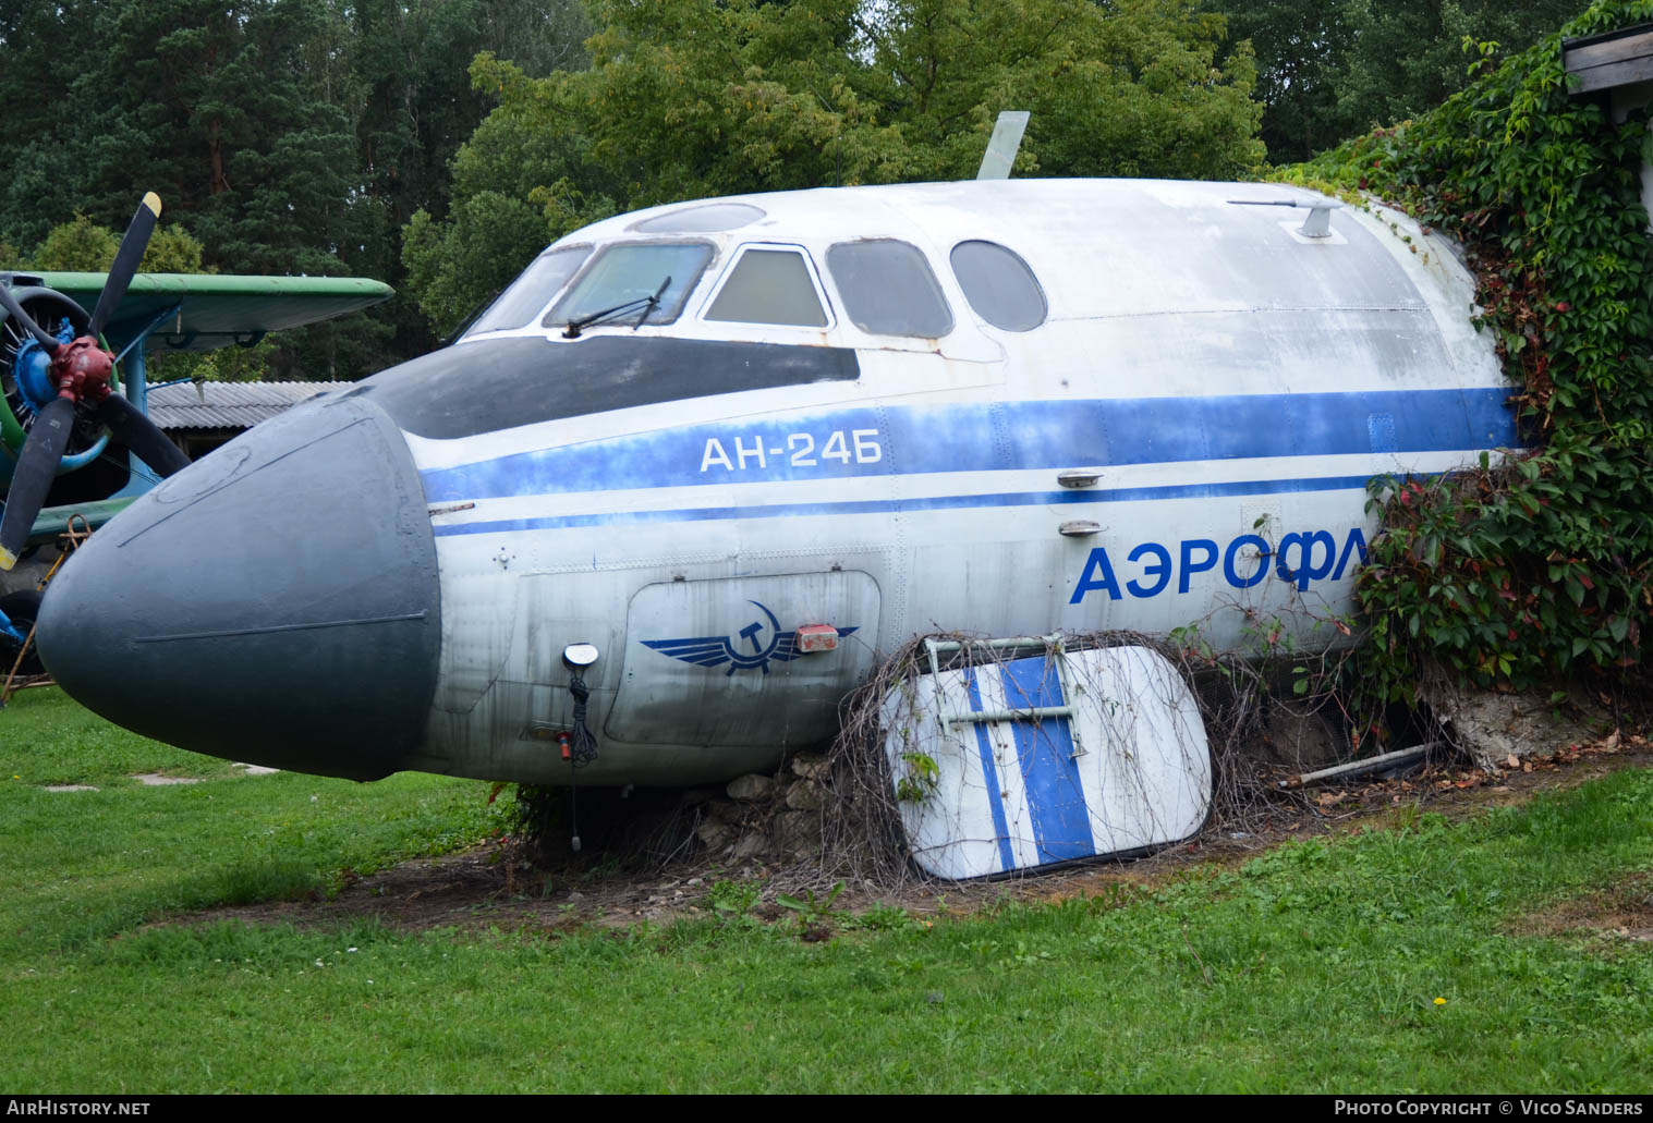
[[(0, 268), (145, 190), (225, 272), (402, 284), (400, 231), (445, 213), (488, 111), (466, 66), (584, 64), (577, 0), (0, 0)], [(431, 337), (410, 302), (284, 334), (273, 377), (355, 378)]]

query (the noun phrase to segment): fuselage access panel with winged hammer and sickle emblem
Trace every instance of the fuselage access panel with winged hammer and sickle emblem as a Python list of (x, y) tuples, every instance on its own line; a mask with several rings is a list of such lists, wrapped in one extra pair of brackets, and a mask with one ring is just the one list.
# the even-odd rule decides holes
[[(631, 743), (810, 745), (876, 666), (879, 590), (858, 570), (646, 585), (626, 611), (605, 735)], [(797, 631), (831, 624), (833, 651)]]

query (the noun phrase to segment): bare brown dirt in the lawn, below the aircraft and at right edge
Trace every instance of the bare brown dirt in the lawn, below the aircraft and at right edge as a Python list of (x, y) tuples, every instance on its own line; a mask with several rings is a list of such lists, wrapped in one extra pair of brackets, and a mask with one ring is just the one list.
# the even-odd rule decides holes
[[(835, 908), (865, 913), (883, 905), (929, 917), (975, 912), (1003, 900), (1126, 897), (1169, 877), (1197, 875), (1202, 867), (1238, 865), (1288, 839), (1397, 827), (1415, 822), (1422, 813), (1463, 819), (1489, 808), (1522, 803), (1539, 791), (1565, 789), (1620, 768), (1650, 765), (1653, 746), (1645, 738), (1610, 735), (1595, 745), (1567, 746), (1551, 758), (1529, 758), (1494, 771), (1430, 768), (1393, 779), (1351, 781), (1283, 794), (1278, 813), (1256, 829), (1225, 831), (1213, 824), (1192, 842), (1134, 862), (1084, 865), (1002, 882), (916, 882), (898, 890), (848, 884)], [(721, 884), (746, 887), (749, 900), (734, 893), (739, 907), (754, 917), (777, 920), (788, 915), (777, 903), (777, 893), (802, 893), (800, 885), (808, 879), (798, 869), (774, 870), (757, 864), (731, 869), (714, 862), (678, 862), (640, 877), (617, 870), (615, 862), (605, 862), (600, 854), (544, 870), (531, 867), (511, 839), (493, 839), (463, 854), (405, 862), (370, 875), (344, 870), (339, 880), (332, 892), (317, 892), (306, 900), (218, 908), (164, 923), (240, 918), (248, 923), (332, 926), (375, 918), (403, 931), (562, 931), (592, 923), (625, 928), (719, 915), (719, 905), (727, 910), (731, 902), (727, 888), (714, 890)], [(826, 888), (830, 884), (817, 893)], [(1531, 918), (1532, 931), (1623, 930), (1638, 940), (1653, 938), (1650, 897), (1653, 884), (1643, 880), (1623, 892), (1564, 902)]]

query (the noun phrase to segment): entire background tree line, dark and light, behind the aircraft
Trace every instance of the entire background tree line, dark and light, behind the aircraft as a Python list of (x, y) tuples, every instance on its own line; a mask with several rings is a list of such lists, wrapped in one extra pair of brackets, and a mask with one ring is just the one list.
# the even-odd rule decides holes
[(969, 175), (1003, 107), (1022, 175), (1238, 178), (1582, 2), (0, 0), (0, 268), (155, 190), (208, 268), (403, 291), (264, 348), (355, 378), (617, 210)]

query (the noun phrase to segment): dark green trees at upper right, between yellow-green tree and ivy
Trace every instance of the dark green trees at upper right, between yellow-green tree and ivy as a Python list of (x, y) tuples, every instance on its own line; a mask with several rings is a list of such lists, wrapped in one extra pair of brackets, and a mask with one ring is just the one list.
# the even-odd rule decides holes
[(1524, 50), (1589, 0), (1203, 0), (1256, 50), (1263, 142), (1274, 163), (1415, 117), (1463, 89), (1460, 43)]

